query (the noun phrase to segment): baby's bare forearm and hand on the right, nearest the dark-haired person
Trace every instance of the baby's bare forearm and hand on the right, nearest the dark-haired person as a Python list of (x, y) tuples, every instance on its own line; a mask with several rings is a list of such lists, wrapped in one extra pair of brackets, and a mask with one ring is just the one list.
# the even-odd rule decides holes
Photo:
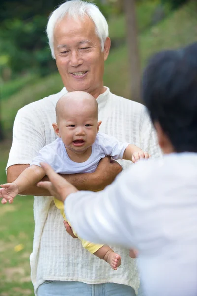
[(131, 160), (133, 163), (144, 158), (150, 158), (150, 155), (132, 144), (129, 144), (123, 153), (123, 159)]

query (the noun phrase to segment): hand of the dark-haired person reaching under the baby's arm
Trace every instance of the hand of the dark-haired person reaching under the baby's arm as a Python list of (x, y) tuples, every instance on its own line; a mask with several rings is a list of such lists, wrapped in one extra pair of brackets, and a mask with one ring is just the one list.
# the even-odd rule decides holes
[(39, 182), (37, 185), (38, 187), (47, 189), (52, 196), (56, 197), (62, 202), (65, 201), (69, 194), (78, 191), (77, 188), (75, 188), (71, 183), (66, 181), (60, 175), (56, 174), (50, 165), (47, 163), (41, 163), (41, 166), (50, 181)]

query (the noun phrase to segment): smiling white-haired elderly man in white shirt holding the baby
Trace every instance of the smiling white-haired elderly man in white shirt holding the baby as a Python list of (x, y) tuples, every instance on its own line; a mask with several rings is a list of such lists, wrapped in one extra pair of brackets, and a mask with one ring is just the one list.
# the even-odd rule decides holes
[[(55, 105), (67, 91), (86, 91), (97, 99), (101, 132), (133, 143), (153, 157), (160, 156), (144, 106), (112, 94), (103, 85), (110, 39), (107, 22), (99, 9), (81, 0), (65, 2), (50, 16), (47, 35), (65, 87), (18, 111), (7, 164), (8, 182), (29, 166), (44, 145), (55, 140), (52, 127)], [(125, 168), (128, 162), (121, 165)], [(64, 178), (80, 190), (98, 191), (110, 184), (121, 169), (118, 163), (110, 163), (105, 158), (95, 173)], [(35, 195), (35, 234), (30, 263), (38, 296), (134, 296), (137, 293), (137, 268), (135, 260), (129, 258), (129, 250), (113, 246), (122, 257), (122, 266), (117, 271), (111, 270), (105, 262), (84, 250), (78, 239), (66, 233), (53, 198), (45, 197), (50, 195), (47, 190), (35, 185), (23, 194)]]

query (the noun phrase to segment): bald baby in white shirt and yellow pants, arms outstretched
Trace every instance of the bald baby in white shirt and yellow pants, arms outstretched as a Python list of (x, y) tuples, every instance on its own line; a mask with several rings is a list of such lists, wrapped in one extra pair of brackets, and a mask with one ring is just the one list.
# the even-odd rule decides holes
[[(82, 91), (69, 92), (56, 104), (56, 120), (53, 128), (58, 138), (44, 146), (27, 169), (12, 183), (0, 185), (2, 204), (13, 202), (14, 197), (44, 176), (41, 162), (47, 162), (56, 173), (92, 173), (100, 159), (127, 159), (133, 163), (149, 158), (147, 152), (129, 143), (120, 143), (116, 138), (99, 133), (98, 104), (95, 98)], [(54, 198), (55, 205), (64, 214), (64, 204)], [(76, 233), (75, 233), (76, 235)], [(96, 245), (80, 239), (83, 247), (116, 270), (121, 265), (121, 256), (107, 245)]]

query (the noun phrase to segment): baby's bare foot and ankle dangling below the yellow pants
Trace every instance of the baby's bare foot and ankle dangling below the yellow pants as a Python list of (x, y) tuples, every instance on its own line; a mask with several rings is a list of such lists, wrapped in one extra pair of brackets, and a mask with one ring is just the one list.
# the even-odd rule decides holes
[(105, 260), (112, 269), (117, 270), (117, 268), (121, 265), (121, 256), (115, 253), (109, 246), (104, 245), (95, 253), (93, 253), (100, 259)]

